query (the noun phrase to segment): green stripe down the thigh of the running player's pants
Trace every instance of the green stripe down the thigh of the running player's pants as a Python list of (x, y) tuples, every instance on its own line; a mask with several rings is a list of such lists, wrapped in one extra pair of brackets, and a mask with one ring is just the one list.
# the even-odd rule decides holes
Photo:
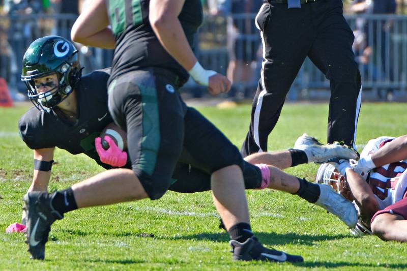
[(139, 169), (152, 175), (160, 149), (160, 118), (158, 115), (157, 89), (155, 87), (138, 85), (142, 106), (142, 139)]

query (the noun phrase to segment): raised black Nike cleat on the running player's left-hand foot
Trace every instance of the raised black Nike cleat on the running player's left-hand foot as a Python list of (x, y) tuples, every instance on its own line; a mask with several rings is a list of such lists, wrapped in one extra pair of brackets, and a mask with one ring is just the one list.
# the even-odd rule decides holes
[(24, 210), (26, 212), (25, 243), (32, 259), (43, 260), (45, 257), (45, 243), (52, 223), (64, 216), (51, 205), (51, 198), (47, 192), (33, 191), (24, 195)]

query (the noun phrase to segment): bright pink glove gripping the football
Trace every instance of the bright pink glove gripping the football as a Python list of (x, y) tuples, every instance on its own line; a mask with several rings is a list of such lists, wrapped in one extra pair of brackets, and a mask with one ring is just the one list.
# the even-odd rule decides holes
[(113, 167), (123, 167), (127, 163), (127, 153), (114, 143), (111, 137), (105, 135), (105, 140), (109, 144), (108, 149), (102, 147), (102, 138), (95, 138), (96, 152), (98, 152), (100, 161)]

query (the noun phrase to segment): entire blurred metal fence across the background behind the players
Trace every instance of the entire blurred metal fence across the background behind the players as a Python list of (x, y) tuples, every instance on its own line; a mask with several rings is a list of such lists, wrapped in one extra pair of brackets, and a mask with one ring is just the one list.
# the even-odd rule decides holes
[[(259, 78), (261, 42), (254, 25), (255, 15), (208, 16), (197, 36), (195, 53), (203, 67), (231, 75), (232, 69), (228, 70), (229, 62), (243, 62), (240, 75), (235, 74), (238, 79), (234, 82), (237, 94), (240, 95), (243, 95), (244, 91), (254, 92)], [(0, 77), (4, 77), (11, 88), (23, 91), (24, 86), (19, 79), (25, 49), (41, 36), (60, 35), (69, 38), (75, 19), (76, 16), (71, 14), (0, 17)], [(354, 52), (362, 74), (363, 88), (405, 91), (407, 16), (358, 15), (347, 16), (346, 19), (354, 29), (356, 37)], [(81, 63), (85, 67), (85, 73), (111, 65), (113, 50), (81, 47), (79, 44), (77, 46), (81, 51)], [(368, 57), (366, 46), (372, 48)], [(234, 65), (237, 65), (237, 62)], [(191, 91), (200, 88), (190, 81), (185, 89)], [(304, 89), (329, 89), (325, 76), (308, 58), (301, 67), (289, 95), (294, 100), (299, 91)]]

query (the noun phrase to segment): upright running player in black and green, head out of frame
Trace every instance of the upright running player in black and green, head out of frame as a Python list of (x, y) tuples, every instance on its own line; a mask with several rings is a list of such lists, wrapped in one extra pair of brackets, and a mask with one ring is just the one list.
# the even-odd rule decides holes
[[(44, 258), (51, 224), (70, 210), (160, 198), (185, 149), (188, 161), (211, 174), (215, 205), (232, 238), (235, 260), (302, 261), (301, 256), (264, 248), (253, 236), (238, 149), (187, 107), (177, 91), (188, 77), (186, 70), (213, 94), (230, 87), (224, 76), (203, 70), (192, 53), (190, 45), (202, 17), (200, 2), (125, 3), (127, 8), (117, 2), (92, 2), (74, 25), (73, 38), (116, 47), (108, 105), (115, 123), (127, 132), (132, 170), (111, 169), (52, 194), (27, 193), (27, 243), (33, 258)], [(112, 28), (107, 27), (108, 15)], [(40, 99), (47, 101), (41, 95)]]

